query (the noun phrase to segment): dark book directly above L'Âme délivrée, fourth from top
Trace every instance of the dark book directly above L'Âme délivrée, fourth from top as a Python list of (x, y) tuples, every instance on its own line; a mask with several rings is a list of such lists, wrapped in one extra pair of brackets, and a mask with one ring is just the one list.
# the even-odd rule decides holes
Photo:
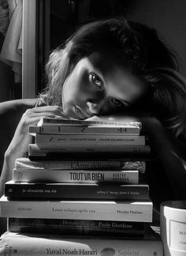
[(150, 156), (150, 145), (61, 145), (60, 148), (50, 145), (42, 149), (36, 144), (28, 145), (28, 157), (30, 156), (47, 156), (56, 159), (69, 160), (73, 159), (96, 159), (96, 160), (113, 160), (113, 159), (132, 159), (137, 160)]

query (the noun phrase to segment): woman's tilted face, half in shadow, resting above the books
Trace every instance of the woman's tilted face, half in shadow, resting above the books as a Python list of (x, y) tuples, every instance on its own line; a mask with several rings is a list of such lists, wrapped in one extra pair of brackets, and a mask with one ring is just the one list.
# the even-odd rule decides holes
[(65, 114), (75, 119), (104, 115), (120, 107), (130, 107), (147, 90), (129, 70), (95, 52), (82, 58), (62, 88)]

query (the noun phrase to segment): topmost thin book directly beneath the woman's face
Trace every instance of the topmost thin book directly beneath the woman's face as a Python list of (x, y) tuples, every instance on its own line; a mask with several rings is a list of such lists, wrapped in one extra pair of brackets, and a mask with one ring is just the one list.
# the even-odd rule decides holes
[(61, 118), (43, 118), (38, 126), (136, 126), (141, 129), (142, 123), (136, 121), (93, 121), (93, 120), (73, 120), (73, 119), (61, 119)]

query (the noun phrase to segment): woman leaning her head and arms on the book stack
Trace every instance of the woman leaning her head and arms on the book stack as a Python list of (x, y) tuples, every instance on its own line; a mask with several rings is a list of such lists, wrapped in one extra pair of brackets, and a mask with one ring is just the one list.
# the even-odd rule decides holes
[(122, 18), (92, 22), (51, 53), (46, 70), (46, 91), (24, 112), (6, 150), (2, 184), (28, 150), (29, 125), (43, 117), (111, 115), (143, 122), (175, 196), (185, 197), (186, 85), (177, 59), (153, 29)]

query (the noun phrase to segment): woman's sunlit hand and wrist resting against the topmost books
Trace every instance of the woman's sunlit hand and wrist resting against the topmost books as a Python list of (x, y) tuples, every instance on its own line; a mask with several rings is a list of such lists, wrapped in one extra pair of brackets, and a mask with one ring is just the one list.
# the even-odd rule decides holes
[(64, 118), (68, 117), (62, 112), (58, 106), (44, 106), (29, 108), (25, 111), (17, 126), (17, 130), (13, 136), (9, 148), (6, 153), (11, 154), (14, 158), (24, 156), (24, 152), (28, 152), (28, 144), (32, 142), (32, 135), (28, 134), (28, 127), (35, 125), (42, 118)]

